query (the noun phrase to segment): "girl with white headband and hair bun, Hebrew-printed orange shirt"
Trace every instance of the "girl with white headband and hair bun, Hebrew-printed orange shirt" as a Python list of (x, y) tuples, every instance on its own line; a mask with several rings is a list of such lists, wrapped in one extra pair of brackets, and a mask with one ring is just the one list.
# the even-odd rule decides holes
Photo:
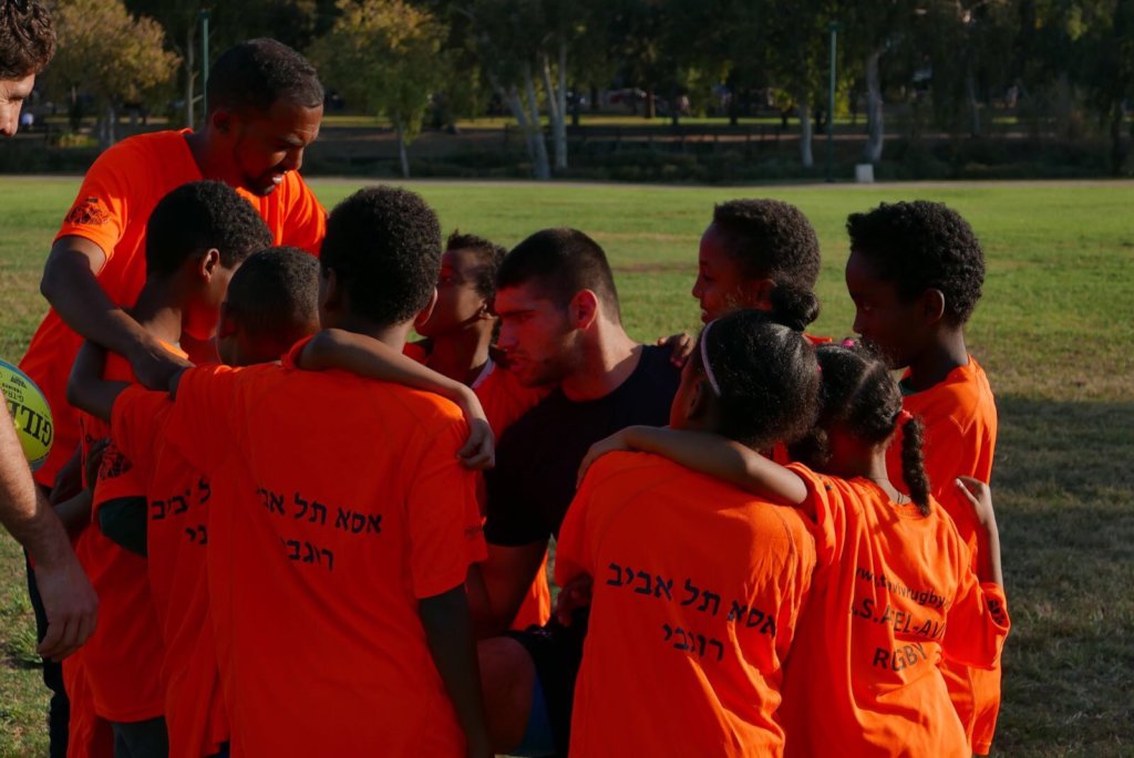
[[(670, 425), (755, 450), (803, 434), (818, 400), (806, 340), (738, 312), (702, 331)], [(782, 755), (782, 664), (814, 567), (792, 509), (661, 457), (599, 461), (556, 554), (558, 585), (594, 578), (570, 755)]]

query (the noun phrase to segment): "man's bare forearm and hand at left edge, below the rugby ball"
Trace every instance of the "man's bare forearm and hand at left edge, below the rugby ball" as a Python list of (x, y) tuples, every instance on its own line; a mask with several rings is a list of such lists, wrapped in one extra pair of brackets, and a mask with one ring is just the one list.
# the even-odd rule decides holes
[(99, 599), (64, 525), (32, 482), (7, 404), (0, 411), (0, 521), (35, 562), (48, 615), (40, 655), (54, 659), (70, 655), (94, 631)]

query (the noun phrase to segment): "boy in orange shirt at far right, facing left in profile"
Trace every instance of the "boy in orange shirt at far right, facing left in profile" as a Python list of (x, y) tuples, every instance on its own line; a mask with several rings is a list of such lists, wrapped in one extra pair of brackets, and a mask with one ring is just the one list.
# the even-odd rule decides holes
[[(847, 220), (847, 290), (854, 330), (904, 368), (905, 409), (925, 425), (925, 471), (933, 496), (953, 517), (974, 560), (979, 525), (954, 480), (989, 482), (997, 412), (988, 377), (965, 347), (965, 322), (981, 297), (984, 253), (955, 211), (923, 201), (882, 204)], [(890, 478), (900, 476), (900, 435), (890, 448)], [(1000, 666), (946, 664), (946, 679), (973, 752), (987, 755), (1000, 709)]]

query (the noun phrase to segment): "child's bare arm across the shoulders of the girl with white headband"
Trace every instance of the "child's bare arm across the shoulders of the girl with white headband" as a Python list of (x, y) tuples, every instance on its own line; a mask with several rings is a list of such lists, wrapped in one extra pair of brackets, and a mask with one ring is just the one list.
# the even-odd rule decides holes
[(807, 500), (803, 479), (755, 450), (719, 434), (660, 426), (628, 426), (594, 443), (579, 466), (578, 480), (595, 460), (617, 450), (654, 453), (786, 505)]

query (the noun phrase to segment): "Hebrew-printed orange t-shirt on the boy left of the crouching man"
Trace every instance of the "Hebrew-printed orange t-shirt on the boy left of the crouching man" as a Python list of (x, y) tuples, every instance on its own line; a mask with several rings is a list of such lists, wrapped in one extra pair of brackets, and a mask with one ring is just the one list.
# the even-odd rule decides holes
[(418, 599), (484, 557), (456, 460), (467, 427), (437, 395), (295, 355), (189, 369), (166, 427), (209, 472), (209, 553), (228, 552), (210, 602), (228, 605), (213, 623), (232, 756), (462, 755)]

